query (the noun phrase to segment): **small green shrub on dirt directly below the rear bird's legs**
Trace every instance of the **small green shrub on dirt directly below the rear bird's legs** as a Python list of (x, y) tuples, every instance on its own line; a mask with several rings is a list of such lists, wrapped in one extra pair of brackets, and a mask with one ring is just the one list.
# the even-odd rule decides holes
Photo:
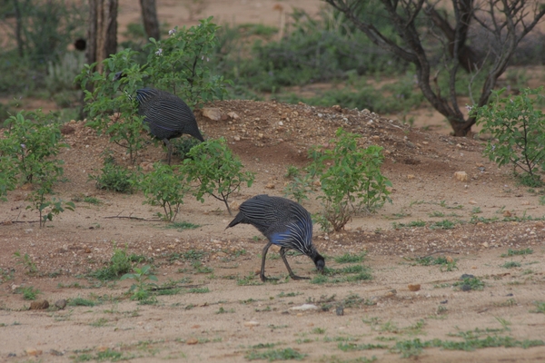
[(164, 214), (158, 212), (164, 221), (174, 221), (188, 187), (183, 177), (174, 172), (170, 165), (156, 162), (154, 171), (144, 175), (139, 183), (144, 191), (144, 203), (163, 207)]

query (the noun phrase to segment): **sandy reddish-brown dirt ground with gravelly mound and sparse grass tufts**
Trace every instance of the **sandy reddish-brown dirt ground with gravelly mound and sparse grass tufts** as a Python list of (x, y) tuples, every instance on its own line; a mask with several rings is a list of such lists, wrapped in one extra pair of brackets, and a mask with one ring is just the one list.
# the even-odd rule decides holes
[[(160, 15), (164, 6), (175, 3), (158, 2)], [(243, 14), (236, 10), (239, 3), (258, 4), (210, 3), (225, 16), (234, 16), (227, 10)], [(295, 3), (319, 2), (290, 2)], [(271, 9), (275, 2), (259, 4)], [(129, 16), (124, 11), (120, 16)], [(234, 195), (233, 207), (259, 193), (282, 195), (286, 167), (304, 165), (309, 147), (327, 145), (338, 127), (361, 134), (362, 146), (384, 148), (382, 172), (393, 184), (392, 203), (354, 218), (339, 233), (314, 228), (314, 243), (328, 268), (363, 266), (372, 279), (286, 279), (278, 250), (272, 248), (266, 273), (279, 280), (261, 283), (255, 274), (265, 240), (258, 231), (247, 225), (225, 230), (233, 217), (222, 202), (201, 203), (190, 196), (176, 221), (199, 227), (169, 229), (154, 216), (160, 209), (144, 205), (141, 193), (97, 190), (88, 175), (100, 172), (101, 153), (113, 149), (120, 163), (128, 163), (127, 157), (84, 123), (74, 122), (64, 130), (70, 148), (60, 155), (67, 181), (55, 192), (74, 201), (75, 211), (65, 211), (40, 229), (37, 213), (25, 210), (27, 188), (10, 192), (1, 204), (0, 361), (239, 362), (272, 360), (273, 353), (281, 352), (283, 358), (300, 354), (312, 362), (389, 362), (403, 356), (421, 362), (545, 360), (545, 346), (536, 342), (545, 340), (542, 195), (520, 186), (509, 168), (498, 169), (482, 158), (484, 142), (339, 107), (251, 101), (213, 106), (225, 117), (211, 121), (197, 112), (204, 134), (224, 136), (245, 169), (256, 173), (252, 188)], [(149, 170), (164, 157), (160, 146), (150, 144), (138, 164)], [(457, 180), (455, 172), (466, 172), (467, 180)], [(99, 203), (85, 202), (85, 197)], [(312, 196), (303, 206), (311, 212), (321, 208)], [(425, 226), (410, 227), (417, 221)], [(138, 266), (153, 265), (159, 286), (178, 288), (158, 292), (177, 293), (139, 304), (128, 292), (134, 280), (89, 278), (89, 272), (106, 266), (114, 244), (147, 258)], [(501, 257), (525, 249), (532, 253)], [(30, 256), (37, 273), (27, 273), (16, 251)], [(365, 257), (362, 262), (335, 261), (345, 253)], [(444, 257), (450, 268), (416, 263), (424, 256)], [(296, 273), (318, 276), (308, 258), (288, 259)], [(483, 288), (461, 286), (463, 274), (481, 280)], [(414, 290), (417, 285), (420, 289)], [(28, 287), (39, 289), (38, 299), (50, 307), (28, 309), (32, 301), (18, 293)], [(94, 306), (77, 305), (78, 298)], [(55, 307), (62, 299), (68, 305)], [(316, 309), (302, 310), (303, 304)], [(453, 343), (468, 337), (489, 346), (494, 345), (490, 341), (504, 343), (472, 351), (418, 348), (433, 339)], [(521, 347), (530, 341), (538, 346)]]

